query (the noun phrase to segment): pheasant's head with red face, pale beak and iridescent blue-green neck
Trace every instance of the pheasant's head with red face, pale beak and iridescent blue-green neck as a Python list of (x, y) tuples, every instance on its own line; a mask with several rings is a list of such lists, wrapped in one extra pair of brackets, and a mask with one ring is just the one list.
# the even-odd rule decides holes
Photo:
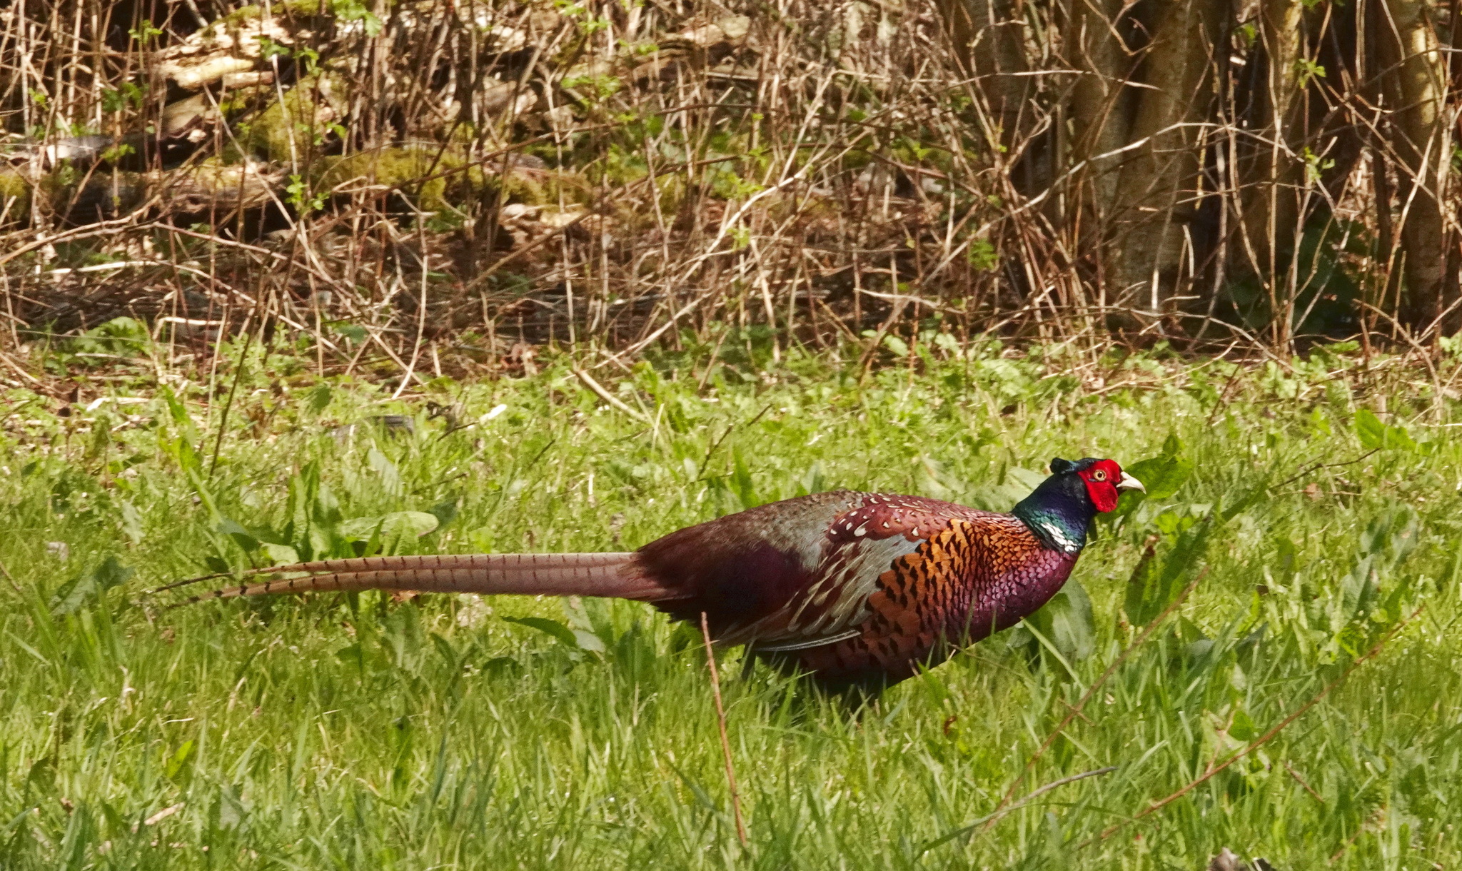
[(1086, 544), (1086, 525), (1098, 511), (1117, 507), (1123, 490), (1145, 490), (1116, 460), (1085, 457), (1051, 460), (1051, 476), (1012, 511), (1047, 545), (1076, 552)]

